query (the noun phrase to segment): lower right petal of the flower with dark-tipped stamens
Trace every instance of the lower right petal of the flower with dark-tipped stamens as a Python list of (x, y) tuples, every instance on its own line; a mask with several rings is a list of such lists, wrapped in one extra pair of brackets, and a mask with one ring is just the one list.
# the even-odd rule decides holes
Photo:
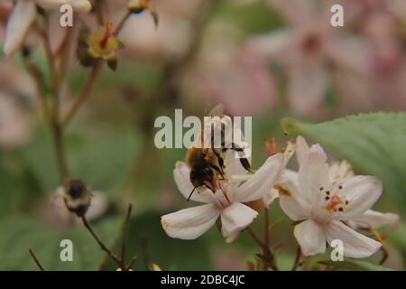
[(371, 256), (382, 247), (381, 243), (355, 232), (354, 229), (337, 219), (332, 220), (326, 227), (326, 238), (328, 243), (334, 239), (341, 240), (344, 246), (344, 256), (353, 258)]

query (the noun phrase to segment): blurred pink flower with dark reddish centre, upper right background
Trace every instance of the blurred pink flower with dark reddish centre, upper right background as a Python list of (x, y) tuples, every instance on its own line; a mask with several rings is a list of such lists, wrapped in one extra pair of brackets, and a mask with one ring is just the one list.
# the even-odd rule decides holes
[[(289, 27), (252, 38), (247, 45), (281, 64), (289, 77), (288, 97), (294, 112), (314, 112), (326, 96), (329, 70), (341, 68), (367, 74), (372, 51), (363, 38), (330, 23), (330, 1), (268, 0)], [(346, 1), (334, 4), (345, 6)], [(355, 10), (346, 17), (346, 26)], [(332, 66), (331, 66), (332, 64)]]

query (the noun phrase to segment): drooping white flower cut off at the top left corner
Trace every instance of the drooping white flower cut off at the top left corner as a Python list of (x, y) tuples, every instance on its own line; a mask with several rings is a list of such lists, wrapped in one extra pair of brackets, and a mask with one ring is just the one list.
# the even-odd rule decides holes
[[(18, 50), (24, 41), (37, 15), (37, 5), (46, 11), (59, 13), (61, 5), (71, 5), (75, 12), (89, 12), (92, 5), (88, 0), (18, 0), (5, 30), (4, 51), (10, 56)], [(54, 18), (55, 20), (59, 19)], [(48, 29), (61, 27), (59, 22), (50, 23)], [(66, 32), (66, 29), (64, 29)], [(62, 33), (63, 34), (63, 33)], [(57, 35), (58, 36), (58, 35)]]

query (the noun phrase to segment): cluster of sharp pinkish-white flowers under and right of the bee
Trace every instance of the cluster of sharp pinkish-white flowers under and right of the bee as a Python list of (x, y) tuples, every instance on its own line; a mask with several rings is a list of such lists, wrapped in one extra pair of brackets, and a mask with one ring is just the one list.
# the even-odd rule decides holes
[[(206, 204), (162, 216), (162, 228), (171, 238), (194, 239), (219, 219), (222, 235), (231, 242), (258, 215), (247, 202), (264, 200), (269, 205), (279, 196), (281, 209), (294, 221), (294, 236), (304, 256), (324, 253), (326, 244), (335, 239), (343, 242), (344, 255), (349, 257), (371, 256), (382, 247), (381, 242), (355, 230), (399, 219), (392, 213), (370, 210), (383, 191), (379, 180), (355, 175), (346, 161), (328, 165), (320, 145), (309, 147), (301, 136), (296, 144), (288, 144), (285, 154), (274, 154), (277, 148), (271, 143), (267, 149), (271, 156), (254, 174), (245, 172), (234, 154), (227, 153), (221, 189), (215, 193), (201, 189), (190, 200)], [(298, 172), (285, 168), (293, 153)], [(193, 190), (188, 165), (178, 162), (173, 174), (180, 192), (188, 198)]]

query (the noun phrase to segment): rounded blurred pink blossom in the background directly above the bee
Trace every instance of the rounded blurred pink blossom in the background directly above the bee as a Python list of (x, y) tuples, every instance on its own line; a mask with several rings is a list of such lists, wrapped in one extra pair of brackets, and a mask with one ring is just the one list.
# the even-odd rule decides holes
[(263, 57), (220, 35), (205, 41), (197, 61), (186, 73), (188, 94), (224, 103), (227, 113), (245, 116), (272, 107), (277, 101), (274, 79)]

